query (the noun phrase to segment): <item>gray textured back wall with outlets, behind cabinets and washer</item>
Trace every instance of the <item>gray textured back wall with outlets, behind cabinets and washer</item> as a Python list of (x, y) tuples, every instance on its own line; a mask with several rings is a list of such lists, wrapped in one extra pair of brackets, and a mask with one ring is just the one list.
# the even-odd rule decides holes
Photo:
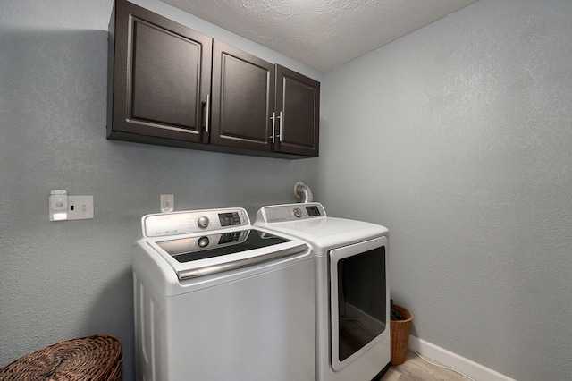
[[(322, 74), (155, 0), (137, 2), (317, 80)], [(112, 0), (4, 1), (0, 13), (0, 367), (87, 334), (114, 334), (133, 378), (130, 256), (140, 217), (295, 202), (316, 159), (240, 157), (105, 140)], [(95, 219), (48, 222), (50, 190), (93, 195)], [(317, 189), (314, 188), (319, 194)]]

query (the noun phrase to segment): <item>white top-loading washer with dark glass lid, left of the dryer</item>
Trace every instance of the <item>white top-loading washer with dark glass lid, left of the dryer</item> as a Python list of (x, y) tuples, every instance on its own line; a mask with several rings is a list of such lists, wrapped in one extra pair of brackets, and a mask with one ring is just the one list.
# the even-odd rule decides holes
[(133, 257), (136, 373), (315, 381), (315, 262), (242, 208), (144, 216)]

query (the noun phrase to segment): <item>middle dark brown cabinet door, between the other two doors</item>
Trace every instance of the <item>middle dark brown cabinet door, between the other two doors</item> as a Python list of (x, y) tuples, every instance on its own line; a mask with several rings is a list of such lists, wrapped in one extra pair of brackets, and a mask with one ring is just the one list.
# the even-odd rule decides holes
[(214, 40), (211, 144), (272, 151), (273, 63)]

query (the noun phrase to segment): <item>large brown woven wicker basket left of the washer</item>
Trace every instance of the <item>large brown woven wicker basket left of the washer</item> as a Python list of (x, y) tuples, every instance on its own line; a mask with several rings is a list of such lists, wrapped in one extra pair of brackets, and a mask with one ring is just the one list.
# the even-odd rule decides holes
[(0, 381), (121, 381), (122, 344), (96, 334), (66, 340), (22, 356), (0, 368)]

